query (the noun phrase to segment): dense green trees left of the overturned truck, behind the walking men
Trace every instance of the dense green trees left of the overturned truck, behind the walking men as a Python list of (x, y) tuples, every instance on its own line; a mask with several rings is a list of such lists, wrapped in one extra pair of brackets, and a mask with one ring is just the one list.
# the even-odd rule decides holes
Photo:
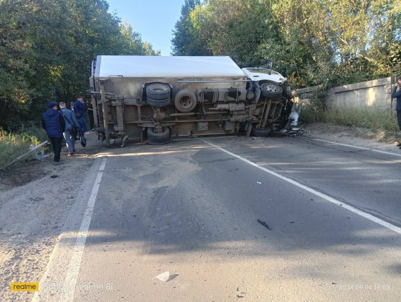
[(0, 1), (0, 126), (85, 95), (96, 55), (159, 55), (105, 0)]

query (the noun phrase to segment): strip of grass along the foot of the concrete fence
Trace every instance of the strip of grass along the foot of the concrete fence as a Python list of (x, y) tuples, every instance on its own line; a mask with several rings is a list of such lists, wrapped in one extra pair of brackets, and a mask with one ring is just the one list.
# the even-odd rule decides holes
[(300, 120), (305, 123), (323, 122), (349, 126), (353, 134), (388, 143), (401, 142), (395, 110), (376, 108), (334, 108), (316, 110), (310, 105), (303, 106)]

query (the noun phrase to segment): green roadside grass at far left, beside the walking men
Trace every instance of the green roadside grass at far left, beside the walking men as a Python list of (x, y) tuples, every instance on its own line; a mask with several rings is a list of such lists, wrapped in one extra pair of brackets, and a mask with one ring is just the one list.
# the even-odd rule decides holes
[(16, 133), (0, 129), (0, 169), (27, 153), (31, 145), (37, 146), (46, 138), (46, 131), (34, 124), (23, 126)]

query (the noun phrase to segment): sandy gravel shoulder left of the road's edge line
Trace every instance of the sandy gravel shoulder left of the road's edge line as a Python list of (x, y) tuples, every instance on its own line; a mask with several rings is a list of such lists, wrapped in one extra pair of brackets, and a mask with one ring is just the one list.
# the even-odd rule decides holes
[(28, 161), (0, 174), (0, 300), (30, 300), (32, 292), (11, 292), (11, 282), (39, 282), (62, 226), (74, 204), (95, 154), (104, 150), (95, 132), (88, 132), (87, 148), (77, 141), (77, 154), (53, 154)]

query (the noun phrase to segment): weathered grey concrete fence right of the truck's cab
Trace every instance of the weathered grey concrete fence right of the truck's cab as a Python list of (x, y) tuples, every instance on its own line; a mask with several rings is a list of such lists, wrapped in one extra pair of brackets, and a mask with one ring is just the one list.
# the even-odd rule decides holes
[[(383, 78), (362, 83), (333, 87), (327, 91), (325, 104), (327, 108), (376, 108), (395, 109), (395, 99), (391, 100), (391, 87), (395, 78)], [(296, 90), (295, 102), (308, 103), (308, 95), (311, 95), (319, 86), (307, 87)]]

